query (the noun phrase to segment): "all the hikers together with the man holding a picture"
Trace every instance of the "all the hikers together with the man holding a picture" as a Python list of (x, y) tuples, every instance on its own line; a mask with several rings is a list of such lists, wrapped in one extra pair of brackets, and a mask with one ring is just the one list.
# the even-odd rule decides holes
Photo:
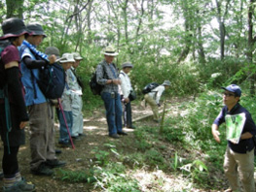
[[(24, 144), (24, 127), (30, 127), (30, 171), (34, 175), (51, 176), (53, 168), (65, 166), (57, 160), (55, 153), (55, 108), (59, 120), (59, 141), (61, 146), (71, 146), (80, 140), (83, 133), (82, 94), (83, 83), (76, 69), (83, 57), (79, 53), (64, 53), (60, 57), (58, 48), (46, 48), (45, 53), (36, 48), (46, 34), (38, 23), (24, 25), (22, 19), (8, 18), (2, 23), (3, 36), (0, 37), (0, 132), (4, 144), (2, 168), (4, 173), (3, 191), (35, 191), (35, 186), (20, 175), (18, 170), (18, 148)], [(128, 73), (133, 68), (130, 62), (122, 65), (121, 72), (113, 63), (116, 50), (109, 46), (102, 52), (104, 59), (97, 65), (96, 80), (103, 85), (100, 93), (106, 110), (108, 135), (119, 139), (128, 133), (123, 127), (134, 129), (131, 117), (133, 91)], [(38, 85), (40, 69), (58, 62), (65, 72), (65, 87), (57, 105), (47, 99)], [(151, 106), (154, 120), (159, 121), (160, 98), (169, 80), (144, 95)], [(227, 119), (241, 119), (238, 140), (227, 138), (224, 171), (230, 182), (227, 192), (239, 191), (238, 176), (245, 192), (255, 191), (253, 137), (256, 126), (249, 112), (239, 105), (241, 89), (236, 84), (222, 87), (225, 107), (212, 125), (212, 135), (220, 143), (219, 126)], [(123, 115), (124, 114), (124, 115)], [(124, 124), (122, 120), (124, 116)], [(231, 116), (231, 117), (230, 117)], [(231, 122), (233, 121), (231, 120)], [(234, 129), (237, 125), (227, 128)], [(236, 127), (236, 130), (237, 127)]]

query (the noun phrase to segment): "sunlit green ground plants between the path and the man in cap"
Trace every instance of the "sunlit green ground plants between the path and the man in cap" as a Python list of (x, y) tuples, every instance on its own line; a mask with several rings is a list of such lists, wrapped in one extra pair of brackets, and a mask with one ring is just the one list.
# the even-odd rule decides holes
[[(215, 92), (200, 95), (196, 102), (179, 106), (176, 116), (166, 112), (163, 134), (159, 127), (138, 126), (131, 141), (133, 151), (124, 153), (120, 141), (93, 149), (90, 171), (59, 170), (58, 178), (70, 182), (90, 182), (95, 191), (218, 191), (226, 179), (222, 164), (225, 128), (220, 127), (222, 144), (211, 135), (211, 123), (222, 108)], [(256, 116), (255, 99), (241, 105)], [(253, 104), (253, 105), (252, 105)], [(167, 115), (169, 114), (169, 115)], [(124, 146), (124, 144), (123, 144)]]

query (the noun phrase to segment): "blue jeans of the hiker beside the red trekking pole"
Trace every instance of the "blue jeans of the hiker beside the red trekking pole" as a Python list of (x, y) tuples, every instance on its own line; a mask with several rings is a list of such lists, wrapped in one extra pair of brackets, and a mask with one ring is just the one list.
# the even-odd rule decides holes
[[(72, 135), (72, 126), (73, 126), (73, 116), (72, 112), (63, 111), (65, 115), (65, 120), (68, 126), (68, 130), (70, 136)], [(57, 110), (57, 117), (59, 121), (59, 143), (68, 143), (69, 142), (69, 135), (66, 128), (66, 123), (63, 117), (63, 114), (60, 110)]]

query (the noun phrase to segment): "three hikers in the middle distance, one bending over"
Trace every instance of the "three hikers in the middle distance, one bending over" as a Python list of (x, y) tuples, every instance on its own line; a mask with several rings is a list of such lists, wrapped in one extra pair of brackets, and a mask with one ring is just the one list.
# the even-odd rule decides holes
[[(109, 137), (119, 139), (120, 136), (126, 136), (128, 133), (123, 131), (123, 127), (134, 129), (132, 125), (131, 105), (133, 88), (128, 78), (128, 73), (133, 68), (130, 62), (122, 64), (122, 70), (119, 73), (116, 65), (113, 63), (118, 52), (115, 48), (108, 46), (102, 52), (104, 59), (97, 65), (96, 80), (103, 85), (101, 90), (101, 99), (104, 102), (106, 109), (106, 118), (108, 124)], [(145, 94), (144, 98), (152, 108), (153, 119), (157, 122), (160, 120), (159, 107), (160, 98), (165, 89), (170, 86), (169, 80), (165, 80), (149, 93)], [(122, 107), (123, 103), (123, 107)], [(124, 116), (124, 126), (122, 122), (122, 112)]]

